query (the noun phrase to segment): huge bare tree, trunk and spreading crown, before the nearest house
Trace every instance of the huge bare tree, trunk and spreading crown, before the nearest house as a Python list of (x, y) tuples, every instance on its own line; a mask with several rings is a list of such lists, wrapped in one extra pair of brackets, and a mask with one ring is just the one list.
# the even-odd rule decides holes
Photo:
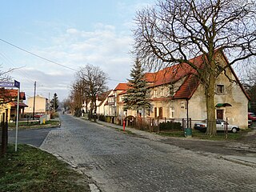
[[(186, 63), (205, 87), (206, 134), (215, 135), (214, 86), (219, 74), (255, 56), (256, 11), (250, 0), (159, 0), (137, 13), (134, 54), (150, 66)], [(218, 62), (225, 53), (230, 62)], [(202, 55), (202, 66), (190, 58)]]

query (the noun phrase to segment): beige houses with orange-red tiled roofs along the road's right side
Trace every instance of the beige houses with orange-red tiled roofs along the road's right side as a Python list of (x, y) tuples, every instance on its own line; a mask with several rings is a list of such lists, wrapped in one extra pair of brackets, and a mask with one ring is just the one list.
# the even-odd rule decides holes
[[(223, 66), (228, 63), (223, 53), (218, 53), (216, 59)], [(191, 59), (191, 62), (197, 66), (202, 65), (202, 56)], [(146, 118), (180, 121), (189, 117), (194, 122), (202, 121), (207, 118), (205, 89), (194, 74), (195, 70), (186, 63), (170, 66), (155, 73), (146, 73), (152, 107), (145, 111), (145, 114), (142, 114), (142, 111), (123, 110), (123, 97), (128, 86), (127, 83), (119, 83), (114, 90), (98, 96), (97, 114), (112, 116), (117, 123), (122, 118), (130, 115), (136, 117), (138, 114)], [(223, 72), (218, 76), (214, 98), (216, 118), (227, 119), (230, 124), (246, 129), (249, 99), (231, 66), (226, 69), (225, 74)]]

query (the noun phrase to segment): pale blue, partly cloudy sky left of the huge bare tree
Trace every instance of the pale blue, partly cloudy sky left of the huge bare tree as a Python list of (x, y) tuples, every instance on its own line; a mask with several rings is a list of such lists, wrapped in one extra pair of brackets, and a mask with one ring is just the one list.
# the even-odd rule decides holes
[(136, 11), (154, 3), (0, 0), (0, 70), (13, 69), (9, 75), (21, 83), (26, 98), (34, 96), (34, 82), (38, 95), (68, 98), (76, 70), (88, 64), (103, 70), (107, 86), (114, 89), (130, 78), (134, 64), (130, 50)]

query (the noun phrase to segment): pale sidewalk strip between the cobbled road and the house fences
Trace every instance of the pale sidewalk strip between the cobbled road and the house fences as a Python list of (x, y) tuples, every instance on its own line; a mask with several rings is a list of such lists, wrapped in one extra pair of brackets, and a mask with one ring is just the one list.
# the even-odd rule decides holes
[[(102, 121), (98, 121), (98, 120), (97, 120), (97, 123), (101, 124), (102, 126), (108, 126), (108, 127), (112, 127), (115, 129), (123, 130), (122, 126), (119, 126), (119, 125), (116, 125), (113, 123), (102, 122)], [(146, 131), (142, 131), (142, 130), (135, 130), (134, 128), (130, 128), (130, 127), (125, 127), (125, 130), (128, 130), (131, 133), (136, 134), (137, 136), (142, 137), (142, 138), (148, 138), (150, 140), (158, 141), (158, 142), (166, 142), (166, 143), (169, 143), (172, 145), (175, 145), (174, 140), (176, 140), (176, 141), (179, 140), (180, 141), (179, 144), (181, 142), (184, 142), (184, 143), (185, 142), (190, 142), (190, 143), (191, 142), (209, 142), (210, 144), (214, 143), (214, 141), (202, 141), (202, 140), (198, 140), (198, 139), (194, 139), (194, 138), (170, 138), (170, 137), (165, 137), (165, 136), (161, 136), (161, 135), (158, 135), (155, 133), (150, 133), (150, 132), (146, 132)], [(255, 137), (255, 139), (256, 139), (256, 137)], [(181, 145), (179, 145), (179, 146), (182, 147)], [(222, 147), (222, 150), (223, 150), (223, 148), (225, 150), (225, 147), (223, 147), (222, 145), (214, 145), (214, 147), (215, 146)], [(184, 146), (184, 148), (186, 148), (186, 146)], [(233, 149), (233, 150), (235, 150), (235, 149)], [(218, 151), (218, 149), (217, 149), (217, 151)], [(246, 151), (246, 150), (244, 150), (244, 151)], [(210, 152), (210, 153), (212, 153), (212, 152)], [(223, 159), (226, 159), (227, 161), (236, 162), (236, 163), (246, 165), (246, 166), (256, 167), (256, 153), (252, 152), (252, 151), (248, 151), (248, 153), (250, 153), (250, 156), (246, 156), (244, 153), (239, 154), (239, 155), (237, 155), (237, 154), (235, 154), (235, 155), (221, 154), (221, 156), (219, 158), (223, 158)]]

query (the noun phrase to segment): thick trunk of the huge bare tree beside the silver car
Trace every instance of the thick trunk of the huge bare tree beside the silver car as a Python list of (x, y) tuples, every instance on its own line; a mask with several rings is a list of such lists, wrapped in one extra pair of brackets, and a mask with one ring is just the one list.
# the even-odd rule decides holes
[(214, 136), (217, 134), (216, 130), (216, 117), (215, 117), (215, 78), (214, 74), (210, 74), (209, 82), (206, 87), (206, 110), (207, 110), (207, 130), (206, 134)]

